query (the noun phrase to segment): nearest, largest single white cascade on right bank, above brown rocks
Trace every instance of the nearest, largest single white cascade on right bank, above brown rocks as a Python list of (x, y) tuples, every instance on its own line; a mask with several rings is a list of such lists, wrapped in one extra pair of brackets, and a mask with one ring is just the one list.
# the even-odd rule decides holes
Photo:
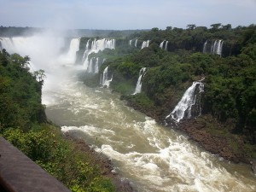
[[(199, 91), (196, 91), (198, 90)], [(201, 92), (204, 91), (204, 84), (200, 81), (195, 81), (189, 87), (188, 90), (185, 91), (182, 99), (177, 103), (177, 106), (173, 109), (172, 113), (166, 116), (166, 119), (171, 117), (176, 122), (179, 122), (181, 119), (185, 117), (191, 118), (191, 108), (195, 105), (197, 93), (201, 95)], [(201, 114), (201, 105), (199, 106), (199, 114)]]

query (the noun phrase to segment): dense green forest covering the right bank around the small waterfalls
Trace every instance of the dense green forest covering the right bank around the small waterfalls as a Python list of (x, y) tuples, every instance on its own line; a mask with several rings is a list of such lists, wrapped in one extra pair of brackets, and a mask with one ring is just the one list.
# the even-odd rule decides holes
[[(130, 39), (138, 39), (138, 48), (128, 44)], [(148, 39), (149, 47), (139, 49)], [(203, 54), (203, 44), (216, 39), (224, 40), (223, 56)], [(107, 58), (100, 73), (108, 66), (109, 75), (113, 75), (112, 90), (119, 91), (134, 108), (161, 121), (190, 84), (204, 77), (202, 114), (217, 119), (223, 128), (220, 134), (236, 136), (244, 144), (241, 148), (250, 146), (250, 158), (256, 157), (256, 26), (168, 26), (166, 30), (134, 33), (125, 40), (115, 50), (105, 49), (94, 55)], [(160, 49), (163, 40), (169, 42), (168, 51)], [(128, 49), (124, 54), (120, 50), (125, 47)], [(148, 68), (143, 92), (132, 96), (142, 67)], [(92, 79), (98, 82), (100, 74)], [(84, 83), (92, 85), (92, 79), (85, 78)], [(209, 134), (214, 130), (218, 127), (207, 126)]]

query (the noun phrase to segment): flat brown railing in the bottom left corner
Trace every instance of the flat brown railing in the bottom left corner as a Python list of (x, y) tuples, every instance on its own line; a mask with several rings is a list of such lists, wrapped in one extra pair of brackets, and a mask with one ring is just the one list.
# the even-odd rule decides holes
[(70, 192), (3, 137), (0, 155), (1, 192)]

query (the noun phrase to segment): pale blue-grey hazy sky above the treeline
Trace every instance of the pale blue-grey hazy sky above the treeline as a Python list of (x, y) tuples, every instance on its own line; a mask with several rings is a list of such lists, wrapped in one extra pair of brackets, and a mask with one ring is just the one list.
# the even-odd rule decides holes
[(0, 26), (61, 29), (256, 24), (256, 0), (0, 0)]

